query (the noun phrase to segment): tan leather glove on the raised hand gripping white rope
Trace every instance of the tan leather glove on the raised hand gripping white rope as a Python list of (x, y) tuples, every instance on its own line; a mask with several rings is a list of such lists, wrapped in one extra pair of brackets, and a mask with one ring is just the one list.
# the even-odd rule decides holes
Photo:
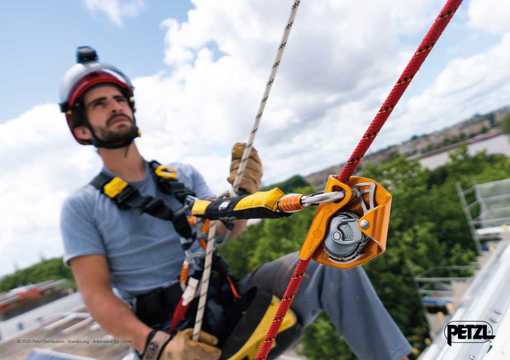
[[(237, 169), (243, 156), (244, 147), (246, 143), (236, 143), (232, 148), (232, 162), (230, 164), (230, 176), (227, 181), (234, 184), (236, 179)], [(247, 193), (259, 191), (260, 181), (262, 179), (262, 162), (260, 161), (259, 154), (255, 148), (251, 148), (250, 156), (246, 162), (243, 177), (239, 183), (239, 188), (245, 190)]]

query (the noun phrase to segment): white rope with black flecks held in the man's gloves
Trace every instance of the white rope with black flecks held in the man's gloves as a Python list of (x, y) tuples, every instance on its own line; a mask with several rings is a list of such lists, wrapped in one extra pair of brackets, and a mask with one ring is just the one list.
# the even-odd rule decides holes
[[(255, 121), (253, 123), (253, 128), (250, 132), (250, 137), (246, 146), (244, 147), (243, 156), (241, 157), (241, 161), (239, 162), (239, 168), (237, 170), (236, 178), (234, 180), (234, 184), (232, 185), (232, 189), (234, 193), (238, 193), (239, 191), (239, 183), (244, 174), (244, 169), (246, 169), (246, 162), (248, 161), (248, 157), (250, 156), (250, 150), (253, 146), (253, 141), (255, 140), (255, 135), (257, 134), (257, 130), (259, 129), (260, 120), (262, 119), (262, 114), (264, 113), (264, 108), (266, 107), (267, 99), (269, 98), (269, 93), (271, 92), (271, 87), (274, 82), (274, 77), (276, 76), (276, 71), (278, 71), (278, 67), (280, 65), (280, 61), (282, 60), (282, 56), (284, 53), (285, 45), (287, 45), (287, 39), (289, 38), (290, 30), (292, 28), (292, 24), (294, 23), (294, 18), (296, 17), (297, 8), (299, 7), (300, 0), (295, 0), (292, 5), (289, 20), (287, 21), (287, 25), (285, 26), (284, 35), (282, 37), (282, 41), (278, 46), (278, 52), (276, 53), (276, 59), (274, 60), (273, 66), (271, 68), (271, 74), (269, 75), (269, 80), (266, 84), (266, 90), (264, 91), (264, 95), (262, 96), (262, 101), (260, 102), (259, 109), (257, 111), (257, 116), (255, 117)], [(200, 287), (200, 299), (198, 300), (198, 309), (195, 318), (195, 327), (193, 328), (193, 340), (198, 341), (198, 336), (200, 333), (200, 329), (202, 327), (203, 320), (203, 312), (206, 308), (207, 301), (207, 290), (209, 288), (209, 278), (211, 276), (211, 264), (212, 264), (212, 256), (213, 256), (213, 247), (214, 247), (214, 238), (216, 232), (216, 224), (215, 221), (212, 221), (211, 228), (209, 230), (209, 239), (207, 241), (206, 248), (206, 261), (203, 268), (202, 274), (202, 285)]]

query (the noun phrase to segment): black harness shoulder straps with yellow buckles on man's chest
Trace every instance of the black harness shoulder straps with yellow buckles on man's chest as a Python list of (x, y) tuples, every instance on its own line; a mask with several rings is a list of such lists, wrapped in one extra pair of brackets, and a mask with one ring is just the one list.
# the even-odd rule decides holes
[[(172, 168), (164, 167), (156, 160), (152, 160), (149, 166), (161, 192), (174, 196), (181, 204), (184, 204), (186, 196), (195, 195), (183, 182), (176, 179), (175, 171)], [(184, 207), (173, 211), (165, 205), (162, 199), (143, 196), (135, 186), (105, 172), (99, 173), (90, 184), (110, 197), (120, 208), (134, 208), (139, 214), (147, 213), (163, 220), (172, 221), (179, 235), (185, 239), (193, 236)]]

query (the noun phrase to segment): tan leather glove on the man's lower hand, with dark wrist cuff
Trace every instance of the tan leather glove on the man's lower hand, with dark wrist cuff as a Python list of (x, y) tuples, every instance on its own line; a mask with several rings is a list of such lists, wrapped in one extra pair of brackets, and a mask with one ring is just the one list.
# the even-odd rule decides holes
[(163, 331), (152, 331), (147, 337), (142, 360), (218, 360), (221, 350), (214, 345), (218, 339), (205, 331), (200, 331), (198, 342), (191, 340), (193, 329), (177, 331), (170, 335)]

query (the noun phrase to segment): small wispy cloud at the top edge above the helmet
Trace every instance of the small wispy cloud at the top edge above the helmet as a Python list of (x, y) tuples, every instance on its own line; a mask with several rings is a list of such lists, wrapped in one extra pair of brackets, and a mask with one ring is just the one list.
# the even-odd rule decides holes
[(116, 25), (124, 26), (123, 17), (135, 17), (145, 7), (145, 0), (84, 0), (89, 11), (104, 12)]

